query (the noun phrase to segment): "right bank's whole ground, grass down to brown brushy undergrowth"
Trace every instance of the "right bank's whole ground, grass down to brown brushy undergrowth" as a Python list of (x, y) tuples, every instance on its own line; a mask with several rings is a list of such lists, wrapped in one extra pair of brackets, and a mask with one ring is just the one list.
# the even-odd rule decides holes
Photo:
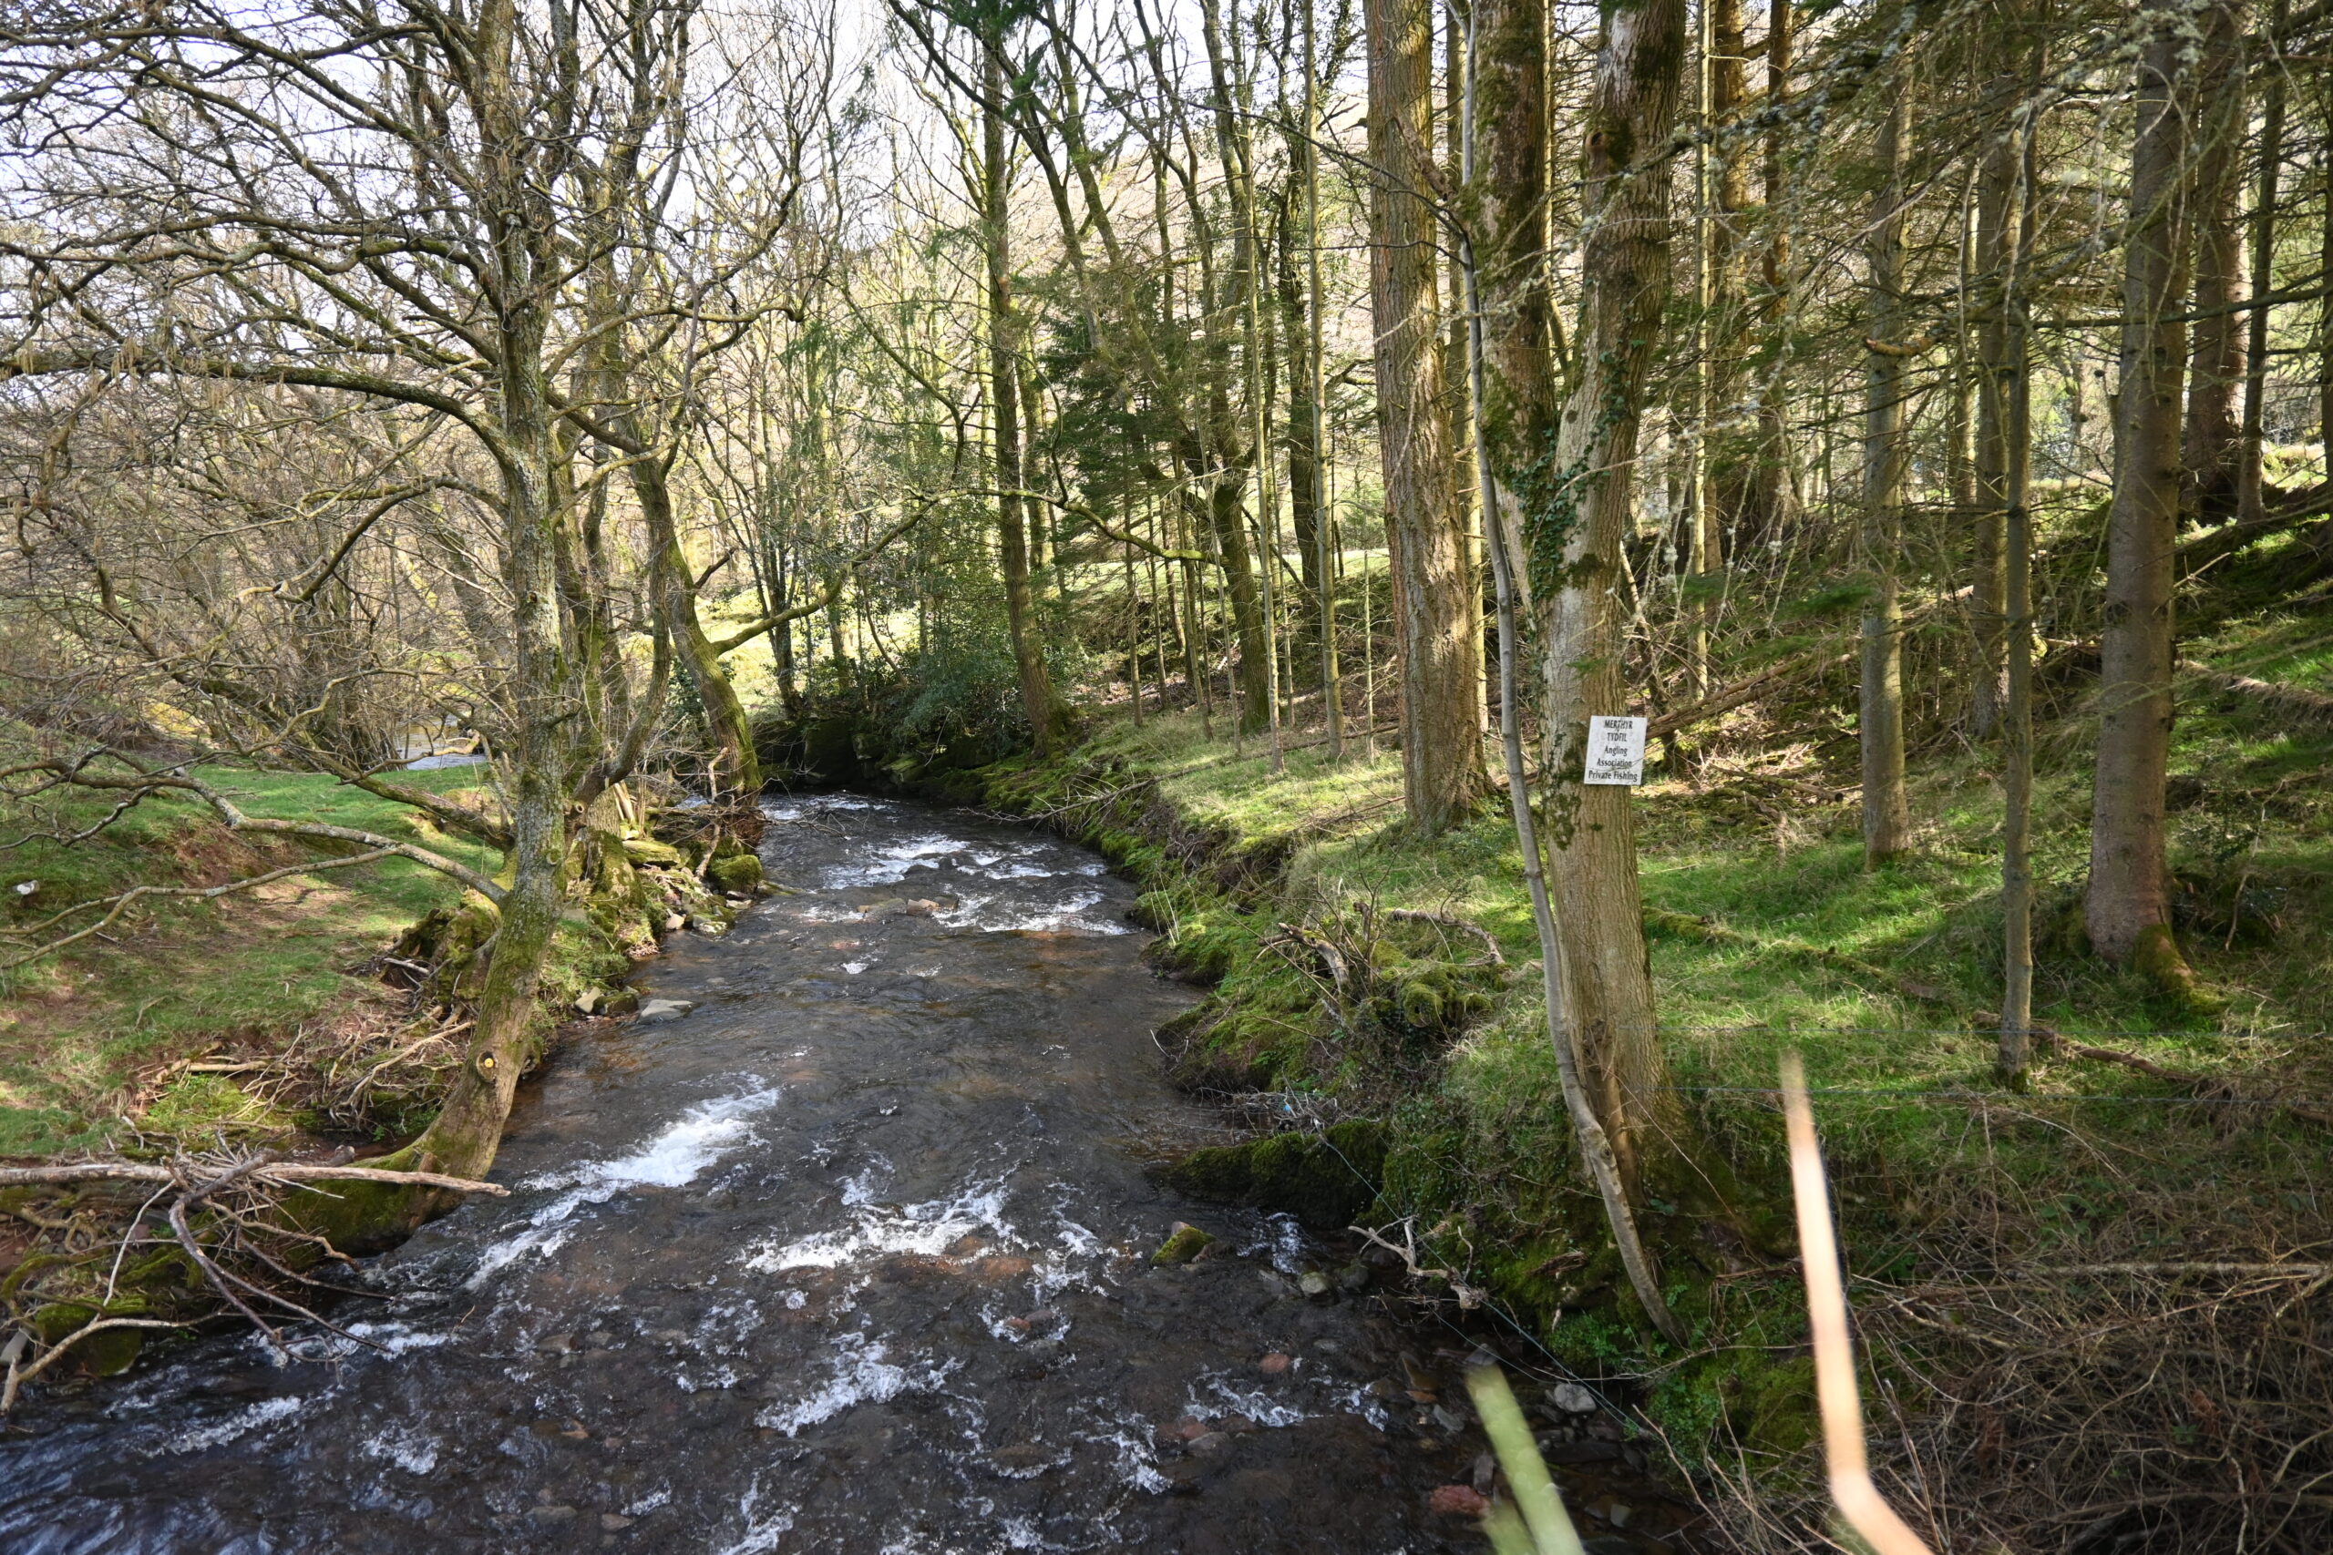
[[(2002, 802), (1988, 753), (1915, 760), (1918, 849), (1876, 872), (1852, 730), (1827, 716), (1792, 734), (1745, 709), (1698, 734), (1689, 772), (1654, 767), (1638, 790), (1670, 1079), (1750, 1191), (1778, 1194), (1775, 1063), (1806, 1056), (1892, 1438), (1883, 1476), (1913, 1504), (1950, 1506), (1934, 1513), (1943, 1548), (1962, 1548), (1955, 1532), (2221, 1548), (2228, 1518), (2277, 1548), (2277, 1529), (2326, 1522), (2312, 1480), (2333, 1464), (2303, 1399), (2333, 1380), (2312, 1317), (2333, 1266), (2307, 1261), (2333, 1247), (2333, 727), (2207, 676), (2324, 685), (2333, 636), (2303, 608), (2221, 620), (2181, 653), (2172, 865), (2181, 942), (2219, 1014), (2165, 1002), (2081, 942), (2095, 711), (2076, 685), (2037, 739), (2034, 1016), (2069, 1047), (2044, 1054), (2023, 1096), (1992, 1079)], [(1647, 1348), (1579, 1278), (1589, 1254), (1568, 1226), (1584, 1194), (1558, 1166), (1505, 807), (1418, 839), (1395, 755), (1330, 760), (1316, 730), (1288, 746), (1274, 772), (1262, 739), (1208, 739), (1190, 711), (1134, 727), (1120, 704), (1069, 760), (987, 781), (1160, 888), (1164, 958), (1215, 979), (1201, 1019), (1164, 1033), (1185, 1042), (1185, 1079), (1283, 1126), (1386, 1119), (1379, 1219), (1430, 1231), (1425, 1261), (1488, 1287), (1568, 1366), (1635, 1382), (1649, 1427), (1712, 1494), (1757, 1480), (1736, 1525), (1789, 1520), (1810, 1485), (1810, 1410), (1785, 1259), (1712, 1261), (1684, 1296), (1694, 1352)], [(1136, 800), (1146, 821), (1129, 821)], [(1190, 837), (1208, 839), (1204, 858)], [(1262, 870), (1225, 867), (1241, 858)], [(1355, 914), (1383, 923), (1395, 907), (1477, 923), (1526, 972), (1428, 1063), (1332, 1019), (1283, 933), (1351, 937)]]

